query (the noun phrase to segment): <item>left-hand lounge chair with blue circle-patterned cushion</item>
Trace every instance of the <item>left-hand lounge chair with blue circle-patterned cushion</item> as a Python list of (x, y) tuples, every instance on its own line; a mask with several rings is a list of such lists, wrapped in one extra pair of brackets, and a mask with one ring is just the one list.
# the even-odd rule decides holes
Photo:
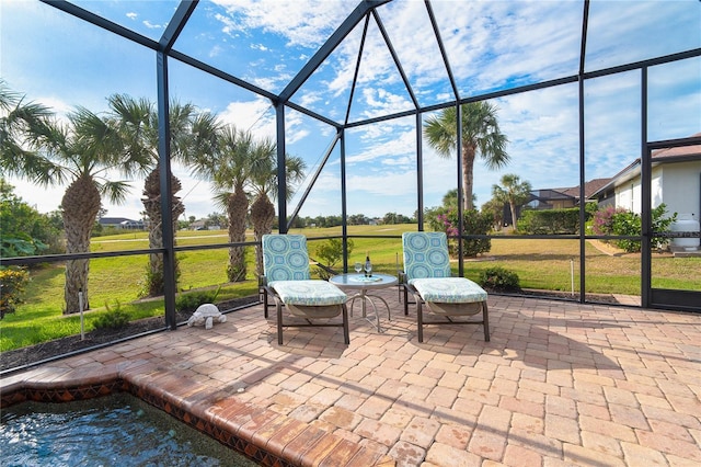
[[(283, 344), (283, 328), (287, 327), (338, 327), (343, 339), (348, 335), (347, 296), (326, 281), (312, 280), (309, 273), (307, 238), (301, 235), (263, 236), (263, 269), (261, 286), (267, 318), (268, 295), (275, 299), (277, 312), (277, 342)], [(304, 320), (303, 323), (284, 323), (283, 308)], [(342, 322), (336, 318), (341, 316)], [(317, 322), (312, 322), (317, 321)]]

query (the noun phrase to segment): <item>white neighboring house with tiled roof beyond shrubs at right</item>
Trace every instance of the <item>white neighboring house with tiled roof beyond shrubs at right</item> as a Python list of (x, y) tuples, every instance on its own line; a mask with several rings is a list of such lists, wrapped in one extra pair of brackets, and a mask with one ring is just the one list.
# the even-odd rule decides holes
[[(693, 137), (701, 136), (701, 133)], [(662, 203), (667, 213), (701, 214), (701, 145), (658, 149), (652, 152), (652, 207)], [(599, 206), (617, 206), (642, 213), (641, 159), (617, 173), (590, 195)]]

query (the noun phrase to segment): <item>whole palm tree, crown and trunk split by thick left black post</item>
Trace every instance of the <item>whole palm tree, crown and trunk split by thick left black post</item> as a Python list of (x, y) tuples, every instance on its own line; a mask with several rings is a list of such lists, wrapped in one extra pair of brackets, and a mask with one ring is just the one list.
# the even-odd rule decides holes
[[(136, 100), (126, 94), (114, 94), (108, 99), (112, 115), (119, 123), (119, 134), (126, 151), (139, 155), (149, 162), (143, 182), (141, 202), (149, 219), (149, 248), (163, 248), (161, 215), (160, 159), (158, 153), (158, 112), (146, 99)], [(198, 114), (193, 104), (173, 102), (170, 105), (171, 157), (188, 163), (202, 153), (211, 152), (216, 146), (216, 118), (209, 113)], [(176, 195), (182, 189), (180, 180), (171, 173), (172, 229), (177, 230), (177, 218), (185, 212), (181, 198)], [(177, 262), (175, 275), (177, 276)], [(149, 255), (147, 272), (147, 294), (162, 295), (164, 292), (163, 257), (160, 253)]]

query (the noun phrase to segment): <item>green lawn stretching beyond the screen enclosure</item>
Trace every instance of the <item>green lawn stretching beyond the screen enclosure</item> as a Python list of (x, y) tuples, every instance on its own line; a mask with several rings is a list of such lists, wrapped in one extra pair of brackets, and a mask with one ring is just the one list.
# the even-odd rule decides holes
[[(374, 270), (387, 274), (397, 274), (402, 264), (400, 238), (380, 236), (401, 236), (403, 231), (414, 230), (415, 225), (398, 226), (349, 226), (349, 236), (370, 236), (353, 238), (354, 249), (348, 258), (348, 267), (355, 261), (364, 261), (366, 254), (372, 260)], [(314, 228), (292, 230), (308, 237), (309, 252), (315, 257), (320, 237), (341, 235), (341, 228)], [(216, 244), (227, 241), (226, 231), (179, 232), (177, 244)], [(125, 251), (148, 248), (146, 232), (129, 232), (119, 236), (93, 239), (92, 251)], [(641, 261), (639, 254), (610, 255), (591, 243), (585, 247), (586, 291), (597, 294), (641, 293)], [(212, 249), (185, 251), (177, 253), (181, 269), (179, 288), (181, 291), (217, 287), (221, 285), (218, 299), (255, 295), (257, 278), (254, 274), (254, 249), (246, 248), (249, 272), (246, 281), (231, 284), (227, 282), (226, 266), (228, 250)], [(399, 266), (398, 266), (399, 263)], [(161, 299), (140, 300), (148, 264), (145, 254), (95, 259), (90, 262), (89, 297), (91, 310), (85, 312), (85, 330), (92, 329), (92, 322), (106, 312), (105, 304), (117, 300), (122, 310), (131, 320), (163, 316)], [(550, 291), (579, 291), (579, 241), (578, 240), (538, 240), (538, 239), (492, 239), (492, 250), (476, 260), (468, 260), (464, 275), (478, 280), (480, 271), (499, 265), (516, 272), (522, 288)], [(342, 264), (334, 269), (341, 270)], [(574, 269), (574, 276), (571, 271)], [(458, 265), (453, 270), (458, 271)], [(658, 288), (698, 291), (698, 277), (701, 276), (701, 258), (671, 258), (653, 255), (653, 286)], [(16, 312), (0, 320), (0, 352), (45, 342), (80, 333), (80, 316), (64, 316), (64, 266), (51, 264), (32, 272), (32, 282), (25, 294), (26, 303)]]

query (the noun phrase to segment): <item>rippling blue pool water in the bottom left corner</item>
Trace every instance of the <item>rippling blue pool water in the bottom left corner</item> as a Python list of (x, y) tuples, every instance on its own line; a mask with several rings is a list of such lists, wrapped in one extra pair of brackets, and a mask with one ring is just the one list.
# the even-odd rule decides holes
[(128, 394), (3, 409), (0, 446), (3, 467), (256, 466)]

